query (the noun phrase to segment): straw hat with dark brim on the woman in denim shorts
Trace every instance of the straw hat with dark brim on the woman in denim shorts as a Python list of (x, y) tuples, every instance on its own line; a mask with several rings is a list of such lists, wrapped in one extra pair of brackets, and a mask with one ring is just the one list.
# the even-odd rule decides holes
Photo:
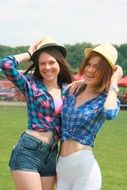
[(57, 44), (57, 42), (52, 37), (47, 36), (41, 40), (38, 49), (33, 53), (31, 59), (34, 60), (41, 53), (43, 49), (47, 49), (48, 47), (54, 47), (59, 49), (62, 55), (66, 57), (67, 54), (66, 49), (63, 46)]

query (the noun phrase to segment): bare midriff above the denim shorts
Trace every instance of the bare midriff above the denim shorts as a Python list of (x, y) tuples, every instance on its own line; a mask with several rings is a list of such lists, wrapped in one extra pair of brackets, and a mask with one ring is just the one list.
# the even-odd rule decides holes
[(52, 136), (53, 136), (52, 131), (40, 132), (40, 131), (33, 131), (33, 130), (27, 129), (25, 132), (33, 137), (36, 137), (37, 139), (41, 141), (46, 142), (47, 144), (51, 144)]

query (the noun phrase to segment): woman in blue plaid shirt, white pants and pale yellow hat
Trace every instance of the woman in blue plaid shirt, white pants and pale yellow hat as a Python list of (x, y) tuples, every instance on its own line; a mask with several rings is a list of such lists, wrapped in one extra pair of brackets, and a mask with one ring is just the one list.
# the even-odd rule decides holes
[[(93, 155), (94, 140), (105, 120), (118, 115), (117, 51), (110, 43), (85, 49), (80, 68), (84, 87), (66, 98), (62, 108), (62, 146), (57, 164), (57, 190), (100, 190), (101, 171)], [(116, 70), (116, 72), (115, 72)]]

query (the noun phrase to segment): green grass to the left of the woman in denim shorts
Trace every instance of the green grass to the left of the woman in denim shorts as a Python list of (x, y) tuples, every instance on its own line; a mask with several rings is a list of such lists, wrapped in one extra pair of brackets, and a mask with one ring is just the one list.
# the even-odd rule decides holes
[(0, 106), (0, 190), (14, 190), (8, 161), (12, 146), (26, 128), (25, 107)]

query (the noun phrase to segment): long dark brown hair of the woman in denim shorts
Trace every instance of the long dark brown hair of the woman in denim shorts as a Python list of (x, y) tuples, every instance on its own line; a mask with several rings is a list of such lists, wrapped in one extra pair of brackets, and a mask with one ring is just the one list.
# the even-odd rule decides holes
[(43, 76), (40, 74), (39, 64), (38, 64), (38, 58), (42, 52), (46, 52), (50, 54), (52, 57), (54, 57), (57, 60), (59, 64), (60, 72), (58, 74), (58, 85), (61, 87), (63, 83), (66, 83), (66, 84), (71, 83), (73, 81), (73, 75), (69, 67), (69, 64), (67, 60), (64, 58), (64, 56), (62, 55), (62, 53), (60, 52), (60, 50), (54, 47), (47, 47), (47, 48), (42, 49), (42, 51), (38, 54), (36, 59), (33, 61), (33, 64), (25, 71), (24, 74), (27, 74), (29, 71), (33, 70), (33, 77), (39, 80), (43, 79)]

